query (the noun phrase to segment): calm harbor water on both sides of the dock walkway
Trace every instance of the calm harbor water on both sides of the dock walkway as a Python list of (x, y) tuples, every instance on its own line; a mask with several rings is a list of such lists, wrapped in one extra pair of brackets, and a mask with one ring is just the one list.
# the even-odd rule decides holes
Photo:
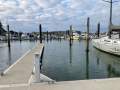
[[(14, 41), (11, 48), (0, 48), (0, 72), (4, 71), (28, 50), (35, 46), (32, 41)], [(120, 77), (120, 58), (93, 48), (85, 40), (44, 41), (41, 73), (56, 81), (86, 80)]]

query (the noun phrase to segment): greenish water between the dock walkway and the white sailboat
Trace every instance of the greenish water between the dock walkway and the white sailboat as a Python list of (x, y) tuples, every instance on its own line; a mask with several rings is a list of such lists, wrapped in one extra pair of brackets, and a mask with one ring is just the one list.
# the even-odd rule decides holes
[(120, 76), (120, 58), (92, 47), (86, 41), (45, 42), (42, 73), (56, 81), (100, 79)]

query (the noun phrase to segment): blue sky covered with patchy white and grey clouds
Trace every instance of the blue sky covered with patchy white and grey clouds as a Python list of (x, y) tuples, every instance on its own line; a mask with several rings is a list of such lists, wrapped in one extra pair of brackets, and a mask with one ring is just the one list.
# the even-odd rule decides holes
[[(43, 31), (65, 31), (73, 25), (85, 32), (90, 17), (90, 31), (95, 32), (100, 22), (104, 32), (108, 31), (109, 7), (102, 0), (0, 0), (0, 20), (4, 28), (9, 24), (15, 31), (39, 31), (42, 24)], [(120, 2), (113, 4), (113, 24), (120, 25)]]

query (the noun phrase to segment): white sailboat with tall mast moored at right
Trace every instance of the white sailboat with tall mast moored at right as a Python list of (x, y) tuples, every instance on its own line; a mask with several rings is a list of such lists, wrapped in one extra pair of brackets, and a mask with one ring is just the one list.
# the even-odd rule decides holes
[[(95, 48), (113, 54), (120, 56), (120, 26), (116, 26), (112, 24), (112, 0), (109, 2), (111, 4), (110, 8), (110, 24), (109, 24), (109, 32), (108, 36), (93, 39), (92, 44)], [(119, 34), (119, 38), (114, 37), (112, 35), (113, 32), (117, 32)]]

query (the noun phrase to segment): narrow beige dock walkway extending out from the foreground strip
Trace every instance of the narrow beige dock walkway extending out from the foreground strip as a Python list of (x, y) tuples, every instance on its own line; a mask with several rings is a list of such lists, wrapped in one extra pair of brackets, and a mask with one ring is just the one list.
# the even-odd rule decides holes
[(34, 53), (42, 53), (42, 49), (43, 44), (37, 43), (33, 49), (29, 50), (12, 66), (5, 70), (4, 75), (0, 77), (0, 85), (28, 84), (34, 67)]

